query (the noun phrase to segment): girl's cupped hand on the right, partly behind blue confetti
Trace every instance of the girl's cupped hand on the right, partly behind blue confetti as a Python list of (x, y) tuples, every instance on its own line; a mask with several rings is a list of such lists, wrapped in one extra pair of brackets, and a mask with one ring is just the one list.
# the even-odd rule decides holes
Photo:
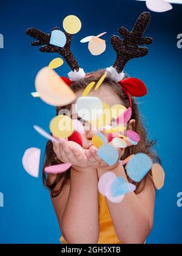
[[(116, 148), (116, 146), (114, 146), (112, 142), (110, 142), (109, 144)], [(120, 159), (124, 154), (124, 149), (121, 149), (121, 148), (116, 148), (116, 149), (118, 150), (119, 159)], [(85, 155), (87, 157), (86, 158), (87, 165), (92, 166), (93, 168), (96, 168), (96, 169), (103, 169), (106, 171), (112, 170), (116, 168), (118, 165), (120, 165), (119, 162), (115, 163), (115, 165), (113, 166), (107, 165), (107, 163), (104, 162), (104, 160), (97, 155), (97, 151), (98, 149), (95, 146), (92, 146), (90, 147), (90, 149), (87, 149), (85, 151)]]

